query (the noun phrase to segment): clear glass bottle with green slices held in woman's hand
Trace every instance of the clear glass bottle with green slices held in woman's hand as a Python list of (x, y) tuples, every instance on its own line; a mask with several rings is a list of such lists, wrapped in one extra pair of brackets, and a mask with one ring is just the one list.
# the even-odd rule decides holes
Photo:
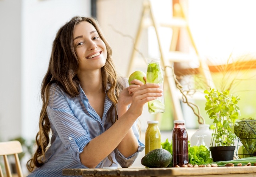
[[(147, 69), (147, 83), (156, 83), (160, 85), (163, 90), (163, 73), (160, 65), (160, 58), (148, 59)], [(157, 97), (157, 99), (148, 102), (149, 113), (163, 113), (165, 112), (164, 96)]]

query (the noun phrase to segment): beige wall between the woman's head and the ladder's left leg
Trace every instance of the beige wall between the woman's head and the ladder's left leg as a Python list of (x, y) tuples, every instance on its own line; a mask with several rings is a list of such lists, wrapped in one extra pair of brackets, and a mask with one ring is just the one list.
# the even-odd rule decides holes
[[(97, 19), (112, 47), (116, 69), (123, 76), (127, 76), (133, 39), (141, 18), (142, 2), (143, 0), (97, 0)], [(141, 43), (147, 45), (145, 41)]]

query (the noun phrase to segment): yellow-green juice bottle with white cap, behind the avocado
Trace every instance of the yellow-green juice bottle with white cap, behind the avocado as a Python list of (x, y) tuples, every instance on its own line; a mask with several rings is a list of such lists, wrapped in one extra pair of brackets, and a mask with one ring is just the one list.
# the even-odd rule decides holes
[(158, 128), (158, 121), (148, 121), (145, 132), (145, 155), (151, 150), (161, 148), (161, 133)]

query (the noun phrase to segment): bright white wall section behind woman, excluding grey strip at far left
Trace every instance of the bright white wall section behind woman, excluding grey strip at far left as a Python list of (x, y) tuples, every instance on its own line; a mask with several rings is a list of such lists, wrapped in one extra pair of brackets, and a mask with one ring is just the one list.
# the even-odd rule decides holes
[(75, 15), (90, 16), (90, 0), (23, 0), (22, 135), (34, 138), (41, 110), (40, 85), (57, 30)]

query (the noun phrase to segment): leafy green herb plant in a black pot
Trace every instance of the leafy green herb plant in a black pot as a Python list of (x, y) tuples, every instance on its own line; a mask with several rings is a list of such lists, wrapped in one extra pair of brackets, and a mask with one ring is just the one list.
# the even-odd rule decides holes
[(234, 157), (234, 126), (240, 114), (238, 96), (229, 95), (229, 90), (223, 92), (210, 88), (205, 90), (205, 110), (213, 120), (210, 151), (213, 161), (233, 160)]

